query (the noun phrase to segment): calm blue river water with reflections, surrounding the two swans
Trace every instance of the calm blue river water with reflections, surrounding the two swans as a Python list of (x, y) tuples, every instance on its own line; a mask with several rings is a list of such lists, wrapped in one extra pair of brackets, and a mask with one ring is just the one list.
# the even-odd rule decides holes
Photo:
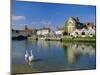
[[(12, 41), (12, 73), (88, 70), (96, 68), (95, 43), (67, 43), (59, 41)], [(26, 50), (34, 56), (25, 60)]]

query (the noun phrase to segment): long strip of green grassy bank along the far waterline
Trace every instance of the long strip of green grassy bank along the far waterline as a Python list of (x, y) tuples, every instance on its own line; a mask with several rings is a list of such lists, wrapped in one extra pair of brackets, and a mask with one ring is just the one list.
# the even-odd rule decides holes
[[(29, 40), (39, 40), (41, 37), (37, 38), (36, 37), (29, 37)], [(66, 42), (96, 42), (96, 37), (77, 37), (77, 38), (72, 38), (70, 36), (62, 36), (61, 38), (55, 38), (55, 37), (50, 37), (50, 38), (42, 38), (41, 40), (46, 40), (46, 41), (66, 41)]]

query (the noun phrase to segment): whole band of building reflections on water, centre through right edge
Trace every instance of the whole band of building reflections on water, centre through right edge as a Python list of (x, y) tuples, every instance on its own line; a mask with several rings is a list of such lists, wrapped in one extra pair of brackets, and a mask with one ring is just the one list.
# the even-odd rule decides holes
[(63, 48), (65, 59), (69, 64), (74, 64), (80, 58), (80, 55), (95, 55), (95, 44), (93, 43), (64, 43), (59, 41), (37, 41), (41, 48), (49, 48), (53, 45), (57, 48)]

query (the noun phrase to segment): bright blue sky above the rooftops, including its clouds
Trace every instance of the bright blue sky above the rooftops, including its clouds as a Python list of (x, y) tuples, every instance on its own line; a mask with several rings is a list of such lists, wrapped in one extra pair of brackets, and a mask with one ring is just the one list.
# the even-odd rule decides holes
[(95, 6), (70, 4), (51, 4), (37, 2), (12, 2), (12, 27), (20, 29), (24, 25), (30, 28), (63, 27), (70, 16), (79, 17), (80, 22), (95, 24)]

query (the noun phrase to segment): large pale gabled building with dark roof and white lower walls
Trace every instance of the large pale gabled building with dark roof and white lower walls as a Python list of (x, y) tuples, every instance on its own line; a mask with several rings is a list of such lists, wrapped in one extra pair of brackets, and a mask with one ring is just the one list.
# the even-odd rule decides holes
[(74, 37), (92, 37), (95, 35), (95, 26), (93, 23), (80, 23), (77, 19), (70, 17), (67, 21), (68, 24), (68, 33)]

